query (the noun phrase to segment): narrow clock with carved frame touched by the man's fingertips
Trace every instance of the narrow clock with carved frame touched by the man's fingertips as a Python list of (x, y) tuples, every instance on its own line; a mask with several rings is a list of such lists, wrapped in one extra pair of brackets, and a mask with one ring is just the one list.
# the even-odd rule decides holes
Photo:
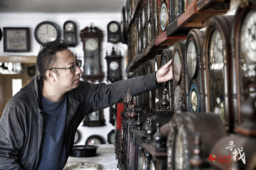
[[(179, 106), (180, 97), (182, 98), (182, 107), (186, 110), (185, 101), (185, 79), (184, 79), (184, 57), (185, 57), (186, 48), (182, 41), (176, 42), (172, 51), (172, 78), (173, 78), (173, 108)], [(178, 86), (178, 88), (177, 88)], [(178, 90), (178, 91), (177, 91)], [(177, 92), (176, 92), (177, 91)], [(181, 95), (182, 94), (182, 95)], [(188, 97), (187, 97), (188, 98)], [(175, 105), (175, 103), (177, 105)]]

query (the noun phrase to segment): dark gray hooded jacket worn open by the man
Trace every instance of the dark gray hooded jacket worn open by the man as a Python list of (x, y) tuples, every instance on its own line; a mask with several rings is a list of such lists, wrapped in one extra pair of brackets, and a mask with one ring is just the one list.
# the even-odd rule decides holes
[[(84, 81), (67, 92), (65, 128), (67, 158), (74, 144), (76, 129), (84, 116), (124, 99), (128, 89), (136, 96), (156, 89), (156, 73), (121, 80), (112, 84)], [(43, 146), (43, 115), (40, 109), (43, 79), (36, 76), (6, 104), (0, 119), (0, 169), (35, 169)], [(50, 155), (49, 155), (50, 156)]]

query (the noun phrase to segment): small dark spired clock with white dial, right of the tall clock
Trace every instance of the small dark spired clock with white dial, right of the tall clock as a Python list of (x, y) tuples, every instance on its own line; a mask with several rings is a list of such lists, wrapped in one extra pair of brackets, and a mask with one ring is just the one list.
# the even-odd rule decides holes
[(112, 48), (111, 55), (105, 57), (108, 65), (108, 76), (107, 81), (114, 83), (115, 81), (122, 80), (122, 68), (121, 68), (121, 60), (122, 60), (121, 52), (119, 55), (116, 54), (115, 48)]

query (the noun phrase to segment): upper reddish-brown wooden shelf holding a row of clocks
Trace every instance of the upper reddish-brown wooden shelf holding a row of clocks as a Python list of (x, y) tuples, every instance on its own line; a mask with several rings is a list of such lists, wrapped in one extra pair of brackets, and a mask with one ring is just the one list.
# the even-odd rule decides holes
[[(130, 33), (131, 37), (133, 36), (131, 33), (131, 30), (134, 31), (133, 27), (136, 27), (136, 18), (140, 15), (140, 12), (142, 11), (143, 7), (148, 1), (136, 0), (135, 2), (136, 2), (135, 4), (132, 4), (134, 3), (134, 0), (127, 0), (125, 4), (125, 7), (127, 8), (127, 10), (130, 11), (130, 12), (126, 11), (127, 13), (126, 17), (128, 17), (126, 21), (126, 33), (127, 34)], [(170, 1), (167, 1), (168, 5), (169, 3)], [(159, 11), (163, 3), (162, 1), (157, 0), (157, 4), (158, 4), (158, 15), (160, 15), (161, 12)], [(129, 55), (128, 55), (129, 57), (127, 58), (128, 65), (126, 68), (126, 73), (132, 72), (139, 65), (141, 65), (142, 63), (145, 63), (148, 59), (153, 59), (155, 55), (161, 54), (164, 48), (168, 48), (171, 45), (174, 45), (176, 42), (186, 40), (188, 32), (191, 29), (205, 27), (212, 16), (225, 14), (229, 10), (229, 1), (227, 0), (209, 0), (209, 1), (188, 0), (186, 4), (184, 4), (184, 8), (185, 10), (183, 11), (183, 13), (180, 16), (173, 18), (172, 20), (169, 19), (171, 15), (168, 14), (167, 27), (164, 30), (162, 30), (158, 24), (159, 30), (160, 30), (158, 31), (159, 33), (156, 34), (155, 32), (156, 34), (155, 37), (152, 38), (150, 43), (147, 43), (146, 48), (141, 52), (138, 52), (137, 49), (135, 49), (137, 48), (135, 46), (136, 45), (139, 46), (140, 43), (129, 42), (131, 40), (128, 39), (127, 44), (131, 43), (130, 47), (133, 48), (133, 50), (129, 51)], [(170, 10), (170, 8), (168, 7), (167, 10)], [(174, 15), (173, 12), (172, 12), (172, 15)], [(151, 20), (154, 20), (155, 19), (154, 17), (155, 17), (155, 14), (151, 13)], [(158, 18), (158, 21), (159, 21), (159, 18)], [(138, 36), (138, 39), (140, 39), (140, 36)]]

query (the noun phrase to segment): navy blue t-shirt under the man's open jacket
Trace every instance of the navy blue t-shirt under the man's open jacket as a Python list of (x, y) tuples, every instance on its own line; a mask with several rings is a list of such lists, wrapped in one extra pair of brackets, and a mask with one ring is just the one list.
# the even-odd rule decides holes
[(66, 164), (66, 143), (64, 139), (67, 98), (58, 102), (42, 98), (44, 144), (36, 170), (62, 170)]

